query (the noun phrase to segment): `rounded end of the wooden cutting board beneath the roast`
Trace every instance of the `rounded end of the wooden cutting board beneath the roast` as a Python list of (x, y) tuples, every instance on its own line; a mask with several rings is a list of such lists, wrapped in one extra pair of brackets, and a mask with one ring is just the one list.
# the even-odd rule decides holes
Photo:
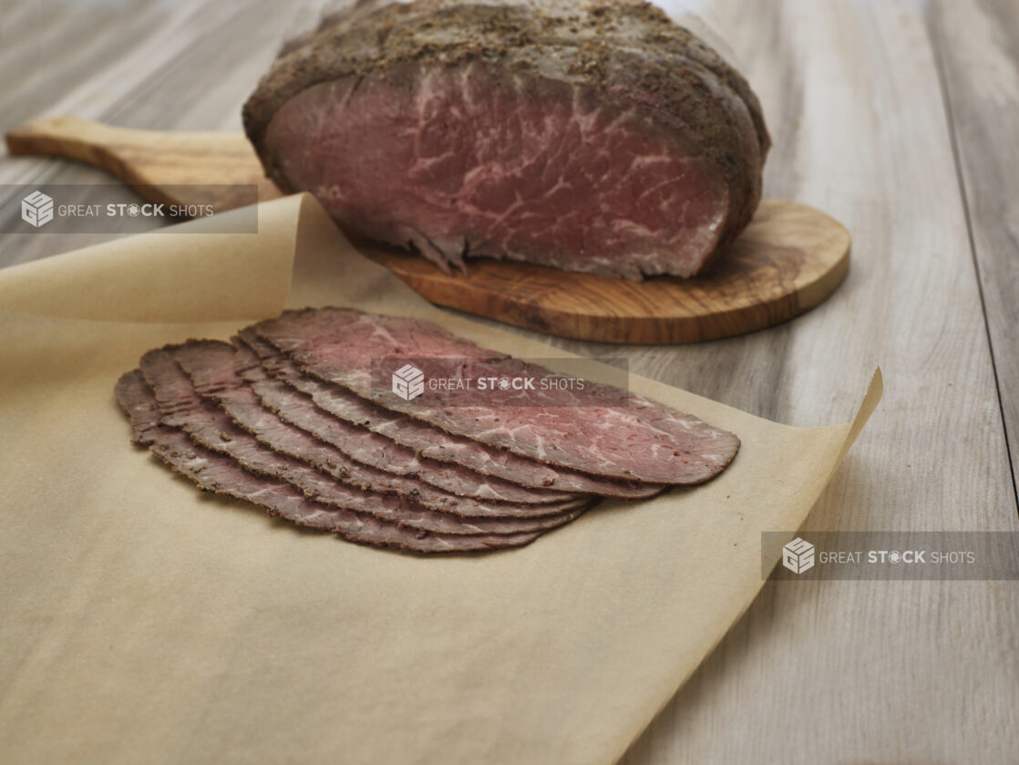
[(358, 249), (439, 305), (566, 338), (664, 344), (742, 335), (808, 311), (846, 277), (850, 236), (812, 207), (765, 199), (710, 272), (644, 282), (480, 259), (447, 274), (400, 250)]

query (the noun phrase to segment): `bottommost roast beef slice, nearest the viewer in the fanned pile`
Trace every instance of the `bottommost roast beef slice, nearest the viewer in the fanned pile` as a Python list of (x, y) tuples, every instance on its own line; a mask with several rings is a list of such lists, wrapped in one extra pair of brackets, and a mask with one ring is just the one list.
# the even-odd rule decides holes
[(352, 542), (392, 547), (419, 553), (483, 552), (520, 547), (533, 542), (538, 532), (526, 534), (441, 534), (388, 523), (347, 509), (326, 506), (308, 499), (293, 484), (242, 468), (233, 459), (196, 444), (184, 432), (161, 424), (159, 405), (135, 369), (117, 381), (116, 397), (130, 418), (133, 441), (147, 446), (170, 468), (199, 488), (246, 500), (300, 526), (332, 531)]

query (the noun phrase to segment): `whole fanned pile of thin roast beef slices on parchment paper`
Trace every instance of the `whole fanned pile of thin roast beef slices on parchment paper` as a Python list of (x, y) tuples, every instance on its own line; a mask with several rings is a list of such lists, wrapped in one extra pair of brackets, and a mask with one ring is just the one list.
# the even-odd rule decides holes
[[(430, 382), (397, 396), (386, 379), (380, 391), (378, 370), (407, 358), (429, 374), (431, 362), (451, 365), (466, 390)], [(478, 375), (506, 374), (538, 385), (505, 399), (471, 392)], [(422, 553), (520, 547), (600, 497), (707, 480), (739, 448), (732, 434), (621, 389), (544, 386), (562, 379), (426, 321), (322, 308), (246, 327), (232, 345), (149, 351), (116, 397), (135, 443), (200, 488)], [(417, 446), (401, 443), (406, 431)]]

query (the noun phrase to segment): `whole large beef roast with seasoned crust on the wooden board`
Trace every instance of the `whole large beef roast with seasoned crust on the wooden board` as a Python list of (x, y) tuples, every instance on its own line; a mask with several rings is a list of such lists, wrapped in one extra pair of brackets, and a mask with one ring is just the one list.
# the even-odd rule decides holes
[(362, 3), (283, 49), (245, 128), (283, 190), (438, 265), (690, 276), (749, 222), (746, 81), (638, 0)]

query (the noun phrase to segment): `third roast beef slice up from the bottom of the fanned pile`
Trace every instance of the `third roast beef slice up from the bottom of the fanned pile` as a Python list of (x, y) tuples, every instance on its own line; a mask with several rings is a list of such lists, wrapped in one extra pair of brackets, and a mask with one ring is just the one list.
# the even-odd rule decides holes
[[(219, 341), (192, 341), (177, 348), (174, 358), (191, 377), (200, 396), (217, 402), (235, 424), (252, 434), (259, 442), (279, 454), (307, 462), (331, 477), (366, 492), (395, 494), (430, 510), (469, 518), (531, 518), (526, 530), (556, 526), (560, 522), (558, 514), (590, 505), (590, 499), (583, 496), (544, 505), (485, 502), (470, 497), (457, 497), (413, 475), (399, 475), (371, 467), (347, 456), (335, 446), (283, 421), (273, 409), (263, 406), (251, 385), (236, 371), (237, 364), (252, 371), (263, 371), (258, 357), (250, 350), (238, 351), (229, 343)], [(293, 412), (302, 404), (315, 407), (300, 393), (294, 392), (291, 396), (286, 391), (278, 390), (285, 388), (282, 382), (265, 378), (264, 373), (260, 376), (263, 378), (255, 380), (254, 385), (260, 386), (273, 397), (273, 406), (278, 405), (280, 411)], [(359, 428), (355, 438), (345, 442), (351, 454), (362, 454), (366, 449), (377, 453), (372, 443), (359, 446), (358, 437), (361, 435), (369, 437), (369, 442), (379, 439), (369, 430)], [(385, 463), (389, 451), (391, 450), (377, 454), (382, 458), (378, 460), (381, 464)], [(372, 455), (362, 454), (362, 457), (367, 462), (375, 461), (375, 456)]]

